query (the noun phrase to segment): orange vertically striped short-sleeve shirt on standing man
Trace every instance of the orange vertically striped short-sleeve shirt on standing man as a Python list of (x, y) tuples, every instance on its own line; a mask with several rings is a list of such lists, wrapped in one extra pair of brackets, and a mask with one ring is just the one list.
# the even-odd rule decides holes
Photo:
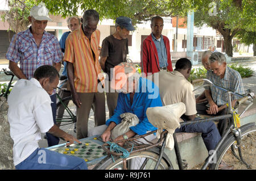
[[(82, 28), (69, 33), (65, 41), (64, 61), (71, 62), (74, 67), (74, 83), (77, 92), (97, 92), (98, 74), (101, 72), (98, 61), (100, 31), (92, 33), (90, 40), (84, 35)], [(93, 53), (95, 54), (95, 61)]]

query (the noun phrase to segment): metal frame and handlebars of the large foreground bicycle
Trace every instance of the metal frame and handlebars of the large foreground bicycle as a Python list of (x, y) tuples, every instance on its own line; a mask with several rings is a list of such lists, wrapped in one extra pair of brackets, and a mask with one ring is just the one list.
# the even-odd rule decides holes
[[(236, 137), (236, 140), (238, 142), (238, 144), (240, 144), (240, 140), (241, 140), (241, 134), (240, 134), (240, 129), (236, 128), (235, 127), (235, 124), (234, 124), (234, 114), (233, 114), (233, 107), (232, 107), (232, 94), (233, 95), (238, 95), (240, 96), (241, 98), (244, 97), (244, 95), (241, 95), (241, 94), (238, 94), (236, 92), (232, 92), (228, 89), (225, 89), (224, 87), (221, 87), (221, 86), (217, 86), (217, 85), (214, 85), (214, 83), (210, 82), (208, 79), (202, 79), (203, 81), (207, 81), (209, 82), (210, 84), (209, 85), (203, 85), (203, 86), (200, 86), (198, 89), (200, 89), (201, 87), (205, 87), (205, 86), (215, 86), (217, 87), (218, 89), (221, 89), (223, 91), (226, 92), (226, 94), (228, 94), (228, 114), (226, 115), (221, 115), (221, 116), (214, 116), (214, 117), (210, 117), (210, 118), (207, 118), (207, 119), (199, 119), (199, 120), (194, 120), (194, 121), (186, 121), (184, 123), (180, 123), (180, 126), (183, 126), (183, 125), (187, 125), (187, 124), (195, 124), (195, 123), (202, 123), (202, 122), (205, 122), (205, 121), (215, 121), (215, 120), (220, 120), (220, 119), (229, 119), (229, 127), (228, 129), (226, 129), (226, 132), (224, 134), (224, 136), (221, 137), (221, 140), (218, 142), (216, 148), (214, 149), (213, 151), (213, 154), (208, 156), (207, 160), (205, 161), (203, 167), (201, 168), (202, 170), (205, 170), (207, 169), (207, 167), (209, 166), (209, 164), (212, 162), (213, 158), (216, 156), (216, 153), (217, 153), (217, 150), (220, 148), (220, 146), (223, 144), (223, 142), (225, 141), (226, 137), (228, 137), (229, 133), (231, 132), (234, 137)], [(197, 89), (196, 89), (197, 90)], [(194, 90), (195, 91), (195, 90)], [(252, 96), (252, 95), (248, 95), (248, 96)], [(254, 96), (254, 95), (253, 95)], [(247, 99), (246, 99), (247, 100)], [(250, 105), (249, 105), (250, 106)], [(246, 108), (247, 109), (247, 108)], [(245, 110), (246, 110), (245, 109)], [(245, 112), (245, 110), (243, 112)], [(176, 140), (176, 137), (174, 136), (174, 147), (175, 147), (175, 153), (176, 153), (176, 157), (177, 157), (177, 162), (178, 162), (178, 166), (179, 166), (179, 169), (180, 170), (183, 170), (183, 166), (182, 166), (182, 159), (181, 159), (181, 155), (180, 155), (180, 151), (179, 151), (179, 146), (177, 144), (177, 140)], [(240, 158), (242, 159), (242, 155), (240, 155)], [(244, 162), (244, 161), (243, 161)], [(245, 162), (244, 162), (245, 163)], [(247, 164), (247, 163), (245, 163)]]

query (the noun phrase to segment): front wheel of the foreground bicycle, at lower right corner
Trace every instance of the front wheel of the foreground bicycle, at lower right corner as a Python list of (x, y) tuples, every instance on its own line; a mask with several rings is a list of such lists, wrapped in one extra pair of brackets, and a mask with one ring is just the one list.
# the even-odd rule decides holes
[(239, 157), (238, 146), (233, 134), (226, 138), (226, 141), (221, 145), (217, 151), (216, 163), (210, 165), (210, 169), (219, 169), (220, 163), (224, 162), (227, 165), (234, 166), (236, 170), (256, 169), (255, 162), (255, 123), (243, 125), (241, 128), (241, 153), (243, 160), (248, 163), (246, 166)]

